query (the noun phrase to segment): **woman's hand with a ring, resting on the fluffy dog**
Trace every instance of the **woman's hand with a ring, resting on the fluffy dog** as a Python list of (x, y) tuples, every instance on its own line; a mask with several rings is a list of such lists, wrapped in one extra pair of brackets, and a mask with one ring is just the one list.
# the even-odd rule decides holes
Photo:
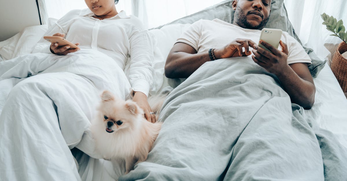
[(136, 102), (137, 105), (139, 105), (143, 109), (144, 117), (146, 118), (147, 121), (152, 123), (156, 122), (155, 114), (153, 114), (151, 107), (148, 104), (146, 94), (142, 92), (135, 92), (133, 101)]

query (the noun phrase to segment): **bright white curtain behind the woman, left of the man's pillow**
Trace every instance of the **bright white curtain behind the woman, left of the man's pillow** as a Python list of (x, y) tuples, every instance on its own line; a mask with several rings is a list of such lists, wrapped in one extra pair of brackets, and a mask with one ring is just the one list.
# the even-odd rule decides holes
[[(141, 19), (146, 28), (154, 28), (191, 15), (222, 0), (119, 0), (117, 11), (125, 10)], [(87, 8), (83, 0), (38, 0), (43, 24), (59, 19), (73, 9)]]

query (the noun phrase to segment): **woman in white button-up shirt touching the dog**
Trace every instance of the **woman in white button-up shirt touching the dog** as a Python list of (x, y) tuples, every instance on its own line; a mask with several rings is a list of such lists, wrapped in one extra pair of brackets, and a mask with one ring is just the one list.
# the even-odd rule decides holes
[[(124, 11), (121, 11), (120, 13), (117, 12), (116, 10), (116, 7), (115, 7), (115, 3), (117, 4), (118, 3), (118, 0), (115, 0), (113, 2), (113, 0), (85, 0), (85, 3), (86, 5), (88, 6), (89, 10), (88, 9), (85, 9), (85, 10), (82, 10), (82, 11), (71, 11), (69, 12), (67, 15), (65, 15), (65, 17), (61, 18), (59, 21), (58, 21), (58, 24), (68, 24), (68, 25), (60, 25), (60, 27), (58, 25), (52, 27), (49, 31), (50, 32), (54, 32), (54, 31), (59, 31), (59, 33), (56, 33), (54, 34), (53, 36), (62, 36), (64, 37), (66, 33), (67, 36), (66, 36), (66, 39), (67, 40), (71, 40), (73, 42), (83, 42), (82, 44), (79, 44), (79, 43), (76, 43), (76, 45), (81, 45), (81, 46), (84, 46), (84, 45), (87, 45), (87, 46), (90, 46), (92, 45), (92, 49), (93, 49), (93, 43), (94, 42), (91, 42), (91, 40), (88, 40), (88, 38), (86, 38), (85, 36), (82, 36), (82, 37), (79, 37), (78, 34), (80, 34), (81, 32), (81, 29), (79, 27), (74, 27), (74, 26), (77, 26), (76, 23), (77, 22), (74, 22), (75, 25), (70, 25), (69, 23), (72, 21), (72, 20), (69, 20), (69, 18), (73, 18), (74, 17), (74, 14), (77, 15), (77, 13), (79, 12), (79, 16), (81, 15), (84, 15), (82, 17), (88, 17), (88, 19), (83, 19), (83, 20), (80, 20), (81, 18), (78, 17), (76, 18), (75, 21), (78, 21), (78, 23), (81, 23), (81, 26), (84, 26), (85, 28), (90, 26), (90, 29), (86, 30), (85, 32), (86, 33), (89, 33), (89, 34), (92, 34), (93, 32), (88, 32), (88, 31), (92, 31), (93, 28), (96, 26), (96, 25), (93, 25), (93, 21), (94, 22), (99, 22), (99, 21), (95, 21), (96, 19), (99, 19), (101, 21), (103, 21), (103, 23), (101, 23), (101, 25), (98, 27), (99, 28), (99, 31), (102, 31), (103, 30), (103, 33), (104, 35), (100, 34), (99, 32), (99, 35), (93, 35), (93, 38), (103, 38), (102, 36), (105, 36), (105, 37), (110, 37), (109, 34), (112, 34), (113, 31), (116, 31), (116, 30), (112, 30), (112, 29), (107, 29), (108, 26), (110, 25), (114, 25), (116, 24), (116, 21), (115, 22), (112, 22), (112, 19), (114, 20), (115, 18), (117, 17), (120, 17), (120, 18), (130, 18), (130, 19), (134, 19), (132, 23), (134, 27), (129, 27), (129, 26), (115, 26), (117, 28), (121, 28), (122, 30), (124, 31), (129, 31), (129, 32), (132, 32), (132, 33), (139, 33), (141, 32), (143, 34), (143, 36), (148, 36), (148, 35), (145, 35), (147, 32), (145, 31), (145, 29), (143, 28), (143, 25), (141, 24), (141, 22), (139, 20), (136, 19), (136, 17), (132, 16), (126, 16), (125, 12)], [(74, 12), (74, 13), (73, 13)], [(118, 16), (117, 16), (118, 15)], [(75, 17), (74, 17), (75, 18)], [(126, 23), (129, 22), (129, 20), (125, 20)], [(82, 23), (86, 23), (86, 24), (83, 24)], [(91, 23), (91, 24), (87, 24), (87, 23)], [(64, 28), (61, 28), (61, 27), (64, 27)], [(71, 29), (69, 30), (69, 33), (66, 32), (67, 29)], [(75, 31), (78, 31), (78, 32), (75, 32)], [(63, 32), (63, 33), (62, 33)], [(71, 33), (70, 33), (71, 32)], [(115, 32), (116, 33), (116, 32)], [(107, 41), (105, 42), (102, 42), (102, 43), (107, 43), (109, 44), (107, 47), (105, 46), (105, 48), (101, 48), (100, 46), (98, 46), (98, 43), (94, 46), (94, 47), (97, 47), (99, 51), (105, 53), (105, 54), (113, 54), (112, 58), (114, 58), (116, 61), (120, 61), (122, 64), (120, 64), (121, 68), (124, 69), (124, 64), (126, 62), (126, 56), (128, 53), (128, 50), (125, 49), (125, 46), (126, 44), (129, 44), (129, 39), (127, 39), (126, 37), (129, 37), (127, 36), (127, 34), (125, 34), (125, 32), (122, 32), (124, 34), (121, 34), (122, 38), (124, 38), (122, 41), (125, 41), (125, 42), (119, 42), (119, 34), (116, 34), (114, 35), (113, 37), (115, 38), (115, 40), (112, 40), (112, 39), (108, 39)], [(50, 35), (50, 34), (48, 34)], [(138, 35), (139, 36), (139, 35)], [(70, 38), (71, 37), (71, 38)], [(80, 39), (81, 38), (81, 39)], [(134, 37), (135, 38), (135, 37)], [(138, 37), (137, 37), (138, 38)], [(136, 40), (134, 40), (134, 43), (135, 43)], [(131, 44), (132, 42), (130, 42), (130, 46), (132, 46)], [(145, 42), (146, 43), (150, 43), (150, 42)], [(116, 45), (115, 45), (116, 44)], [(124, 46), (123, 48), (120, 48), (118, 46)], [(135, 53), (139, 54), (139, 53), (145, 53), (146, 51), (150, 51), (151, 49), (149, 48), (151, 45), (149, 44), (148, 45), (148, 49), (143, 49), (141, 51), (137, 51), (137, 50), (134, 50)], [(129, 49), (129, 48), (128, 48)], [(67, 45), (67, 46), (62, 46), (62, 47), (58, 47), (58, 44), (54, 44), (52, 43), (51, 46), (50, 46), (50, 51), (54, 54), (59, 54), (59, 55), (66, 55), (68, 53), (72, 53), (72, 52), (76, 52), (76, 51), (79, 51), (80, 49), (77, 48), (77, 49), (70, 49), (70, 47)], [(108, 51), (105, 51), (105, 50), (108, 50)], [(108, 53), (109, 51), (111, 51), (110, 53)], [(118, 52), (118, 53), (121, 53), (122, 56), (117, 56), (114, 52)], [(145, 59), (146, 61), (146, 64), (150, 64), (151, 60), (149, 58)], [(135, 60), (137, 62), (137, 60)], [(134, 63), (136, 63), (135, 61), (133, 61)], [(141, 67), (139, 67), (141, 68)], [(149, 67), (142, 67), (143, 70), (148, 73), (150, 72), (150, 69), (148, 69)], [(145, 70), (147, 69), (147, 70)], [(136, 72), (137, 73), (137, 72)], [(151, 72), (150, 72), (151, 73)], [(141, 76), (141, 75), (139, 75)], [(138, 79), (137, 79), (138, 80)], [(148, 80), (148, 81), (152, 81), (152, 80)], [(133, 86), (133, 91), (135, 92), (135, 94), (133, 95), (133, 101), (135, 101), (138, 105), (140, 105), (142, 107), (142, 109), (145, 111), (145, 118), (148, 120), (148, 121), (152, 121), (152, 122), (155, 122), (155, 116), (154, 114), (150, 114), (152, 111), (151, 111), (151, 108), (147, 102), (147, 95), (148, 95), (148, 92), (149, 92), (149, 84), (141, 84), (139, 83), (139, 81), (134, 81), (134, 82), (131, 82), (131, 78), (130, 78), (130, 83), (131, 85)], [(134, 85), (135, 84), (135, 85)], [(147, 90), (148, 89), (148, 90)]]

